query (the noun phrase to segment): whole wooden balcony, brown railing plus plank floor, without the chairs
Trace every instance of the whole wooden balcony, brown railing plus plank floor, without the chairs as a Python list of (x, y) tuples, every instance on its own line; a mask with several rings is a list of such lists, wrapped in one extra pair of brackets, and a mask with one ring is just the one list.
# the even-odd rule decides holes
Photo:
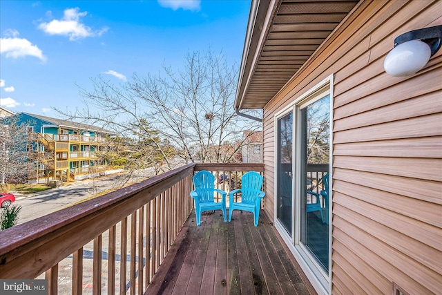
[(0, 278), (46, 278), (49, 294), (313, 294), (263, 211), (258, 227), (242, 211), (195, 225), (199, 170), (234, 180), (264, 166), (188, 164), (0, 231)]

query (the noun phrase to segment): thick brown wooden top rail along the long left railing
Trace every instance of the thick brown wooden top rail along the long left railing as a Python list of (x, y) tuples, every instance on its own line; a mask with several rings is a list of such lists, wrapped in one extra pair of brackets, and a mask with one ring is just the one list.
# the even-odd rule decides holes
[[(193, 173), (194, 167), (194, 163), (187, 164), (93, 200), (50, 213), (32, 222), (0, 231), (0, 277), (38, 276), (82, 247), (84, 241), (92, 240), (143, 204), (153, 200), (164, 189), (169, 189), (174, 183)], [(94, 224), (94, 231), (90, 231), (85, 224)], [(50, 253), (44, 255), (48, 242), (56, 245), (57, 249), (51, 249)], [(44, 255), (46, 259), (35, 261), (36, 253)], [(23, 269), (23, 265), (29, 261), (35, 261), (34, 266)], [(8, 265), (8, 268), (3, 269), (2, 265)]]

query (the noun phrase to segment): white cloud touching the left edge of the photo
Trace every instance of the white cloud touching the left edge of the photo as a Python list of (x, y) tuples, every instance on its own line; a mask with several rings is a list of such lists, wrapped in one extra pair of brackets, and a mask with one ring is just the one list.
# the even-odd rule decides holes
[(5, 38), (0, 38), (0, 53), (6, 53), (6, 57), (16, 59), (30, 55), (43, 61), (46, 60), (40, 48), (27, 39), (18, 38), (19, 32), (17, 30), (7, 30), (5, 35)]

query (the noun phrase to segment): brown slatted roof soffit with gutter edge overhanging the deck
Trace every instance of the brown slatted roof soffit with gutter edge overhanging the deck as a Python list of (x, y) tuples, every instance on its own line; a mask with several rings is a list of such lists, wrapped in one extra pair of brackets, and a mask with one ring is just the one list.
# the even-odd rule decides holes
[(261, 17), (249, 17), (250, 40), (244, 44), (235, 107), (263, 108), (357, 3), (358, 0), (252, 3), (251, 11), (256, 6), (256, 15)]

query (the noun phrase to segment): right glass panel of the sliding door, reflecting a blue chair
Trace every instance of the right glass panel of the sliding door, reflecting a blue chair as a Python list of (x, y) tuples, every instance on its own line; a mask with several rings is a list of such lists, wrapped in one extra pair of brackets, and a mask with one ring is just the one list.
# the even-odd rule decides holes
[(300, 110), (300, 242), (328, 273), (330, 97)]

